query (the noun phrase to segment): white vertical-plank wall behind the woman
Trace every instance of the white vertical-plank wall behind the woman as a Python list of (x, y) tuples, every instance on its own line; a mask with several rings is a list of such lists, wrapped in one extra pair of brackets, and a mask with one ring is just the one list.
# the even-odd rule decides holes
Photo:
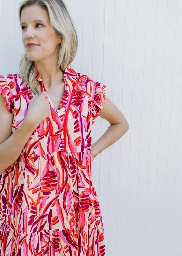
[[(182, 1), (66, 0), (73, 68), (106, 85), (128, 132), (92, 162), (106, 256), (182, 255)], [(0, 0), (0, 74), (18, 72), (19, 0)], [(98, 117), (93, 142), (108, 128)]]

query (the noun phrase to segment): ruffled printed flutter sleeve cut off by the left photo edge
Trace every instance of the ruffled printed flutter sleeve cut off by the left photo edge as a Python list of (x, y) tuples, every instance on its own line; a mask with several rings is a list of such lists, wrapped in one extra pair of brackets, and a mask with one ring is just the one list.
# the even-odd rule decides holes
[(11, 100), (11, 88), (10, 85), (8, 85), (6, 79), (4, 76), (0, 75), (0, 94), (3, 95), (4, 97), (4, 102), (6, 105), (6, 108), (8, 109), (8, 111), (13, 114), (13, 104), (12, 104), (12, 100)]

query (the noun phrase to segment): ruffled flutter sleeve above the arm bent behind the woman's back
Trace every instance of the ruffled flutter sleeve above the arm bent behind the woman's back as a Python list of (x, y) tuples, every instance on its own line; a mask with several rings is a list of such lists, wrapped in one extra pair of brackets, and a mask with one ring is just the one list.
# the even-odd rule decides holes
[(91, 106), (92, 106), (92, 124), (95, 123), (95, 118), (100, 116), (99, 111), (103, 108), (102, 104), (106, 100), (105, 95), (106, 85), (99, 82), (92, 83)]

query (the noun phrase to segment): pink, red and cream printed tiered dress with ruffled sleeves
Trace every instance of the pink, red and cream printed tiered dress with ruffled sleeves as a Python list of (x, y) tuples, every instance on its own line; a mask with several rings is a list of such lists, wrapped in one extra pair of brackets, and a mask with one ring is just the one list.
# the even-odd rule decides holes
[[(46, 91), (38, 72), (36, 79)], [(69, 66), (63, 79), (58, 110), (47, 96), (51, 115), (0, 174), (0, 256), (105, 255), (101, 210), (91, 182), (91, 128), (106, 100), (106, 86)], [(34, 94), (19, 73), (0, 75), (0, 93), (13, 114), (14, 132)]]

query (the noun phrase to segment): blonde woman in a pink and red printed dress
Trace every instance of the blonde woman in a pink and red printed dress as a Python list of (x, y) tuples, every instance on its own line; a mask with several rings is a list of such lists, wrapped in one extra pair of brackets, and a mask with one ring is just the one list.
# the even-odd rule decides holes
[[(69, 66), (77, 35), (61, 0), (24, 1), (19, 20), (19, 73), (0, 76), (0, 255), (104, 255), (91, 161), (128, 123)], [(97, 116), (110, 126), (91, 145)]]

